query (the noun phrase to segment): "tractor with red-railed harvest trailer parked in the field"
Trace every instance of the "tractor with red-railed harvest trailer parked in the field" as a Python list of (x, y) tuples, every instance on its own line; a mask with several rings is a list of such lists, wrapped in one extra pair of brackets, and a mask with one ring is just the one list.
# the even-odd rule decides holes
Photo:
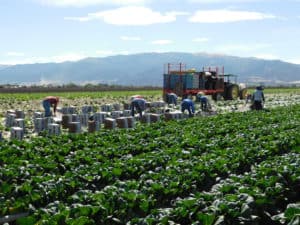
[(203, 67), (202, 71), (186, 69), (183, 63), (165, 65), (164, 97), (175, 93), (180, 97), (195, 96), (198, 92), (212, 95), (214, 100), (244, 99), (247, 94), (246, 86), (236, 83), (237, 76), (224, 74), (224, 67)]

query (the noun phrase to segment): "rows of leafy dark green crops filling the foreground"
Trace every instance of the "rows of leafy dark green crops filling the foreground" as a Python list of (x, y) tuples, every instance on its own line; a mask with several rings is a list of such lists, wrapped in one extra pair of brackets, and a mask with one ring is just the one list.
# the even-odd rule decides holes
[(296, 225), (300, 104), (2, 140), (0, 168), (0, 224)]

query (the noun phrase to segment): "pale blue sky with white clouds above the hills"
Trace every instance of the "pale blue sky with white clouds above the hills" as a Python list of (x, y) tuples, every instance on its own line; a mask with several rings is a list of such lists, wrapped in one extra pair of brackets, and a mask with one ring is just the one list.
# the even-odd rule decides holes
[(0, 0), (0, 64), (191, 52), (300, 64), (300, 0)]

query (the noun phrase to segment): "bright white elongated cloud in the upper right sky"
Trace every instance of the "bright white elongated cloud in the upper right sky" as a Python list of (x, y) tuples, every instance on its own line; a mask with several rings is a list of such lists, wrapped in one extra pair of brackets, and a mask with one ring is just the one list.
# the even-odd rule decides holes
[(276, 17), (271, 14), (264, 14), (260, 12), (221, 9), (197, 11), (193, 16), (189, 18), (189, 21), (192, 23), (230, 23), (274, 18)]

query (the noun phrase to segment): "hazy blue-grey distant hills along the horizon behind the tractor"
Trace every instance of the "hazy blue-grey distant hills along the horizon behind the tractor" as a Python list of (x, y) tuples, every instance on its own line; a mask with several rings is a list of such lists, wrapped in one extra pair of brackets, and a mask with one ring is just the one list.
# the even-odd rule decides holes
[(182, 62), (188, 68), (224, 66), (225, 73), (239, 75), (241, 82), (281, 83), (300, 80), (300, 65), (279, 60), (241, 58), (205, 53), (141, 53), (77, 62), (0, 66), (6, 83), (108, 83), (120, 85), (162, 85), (164, 64)]

